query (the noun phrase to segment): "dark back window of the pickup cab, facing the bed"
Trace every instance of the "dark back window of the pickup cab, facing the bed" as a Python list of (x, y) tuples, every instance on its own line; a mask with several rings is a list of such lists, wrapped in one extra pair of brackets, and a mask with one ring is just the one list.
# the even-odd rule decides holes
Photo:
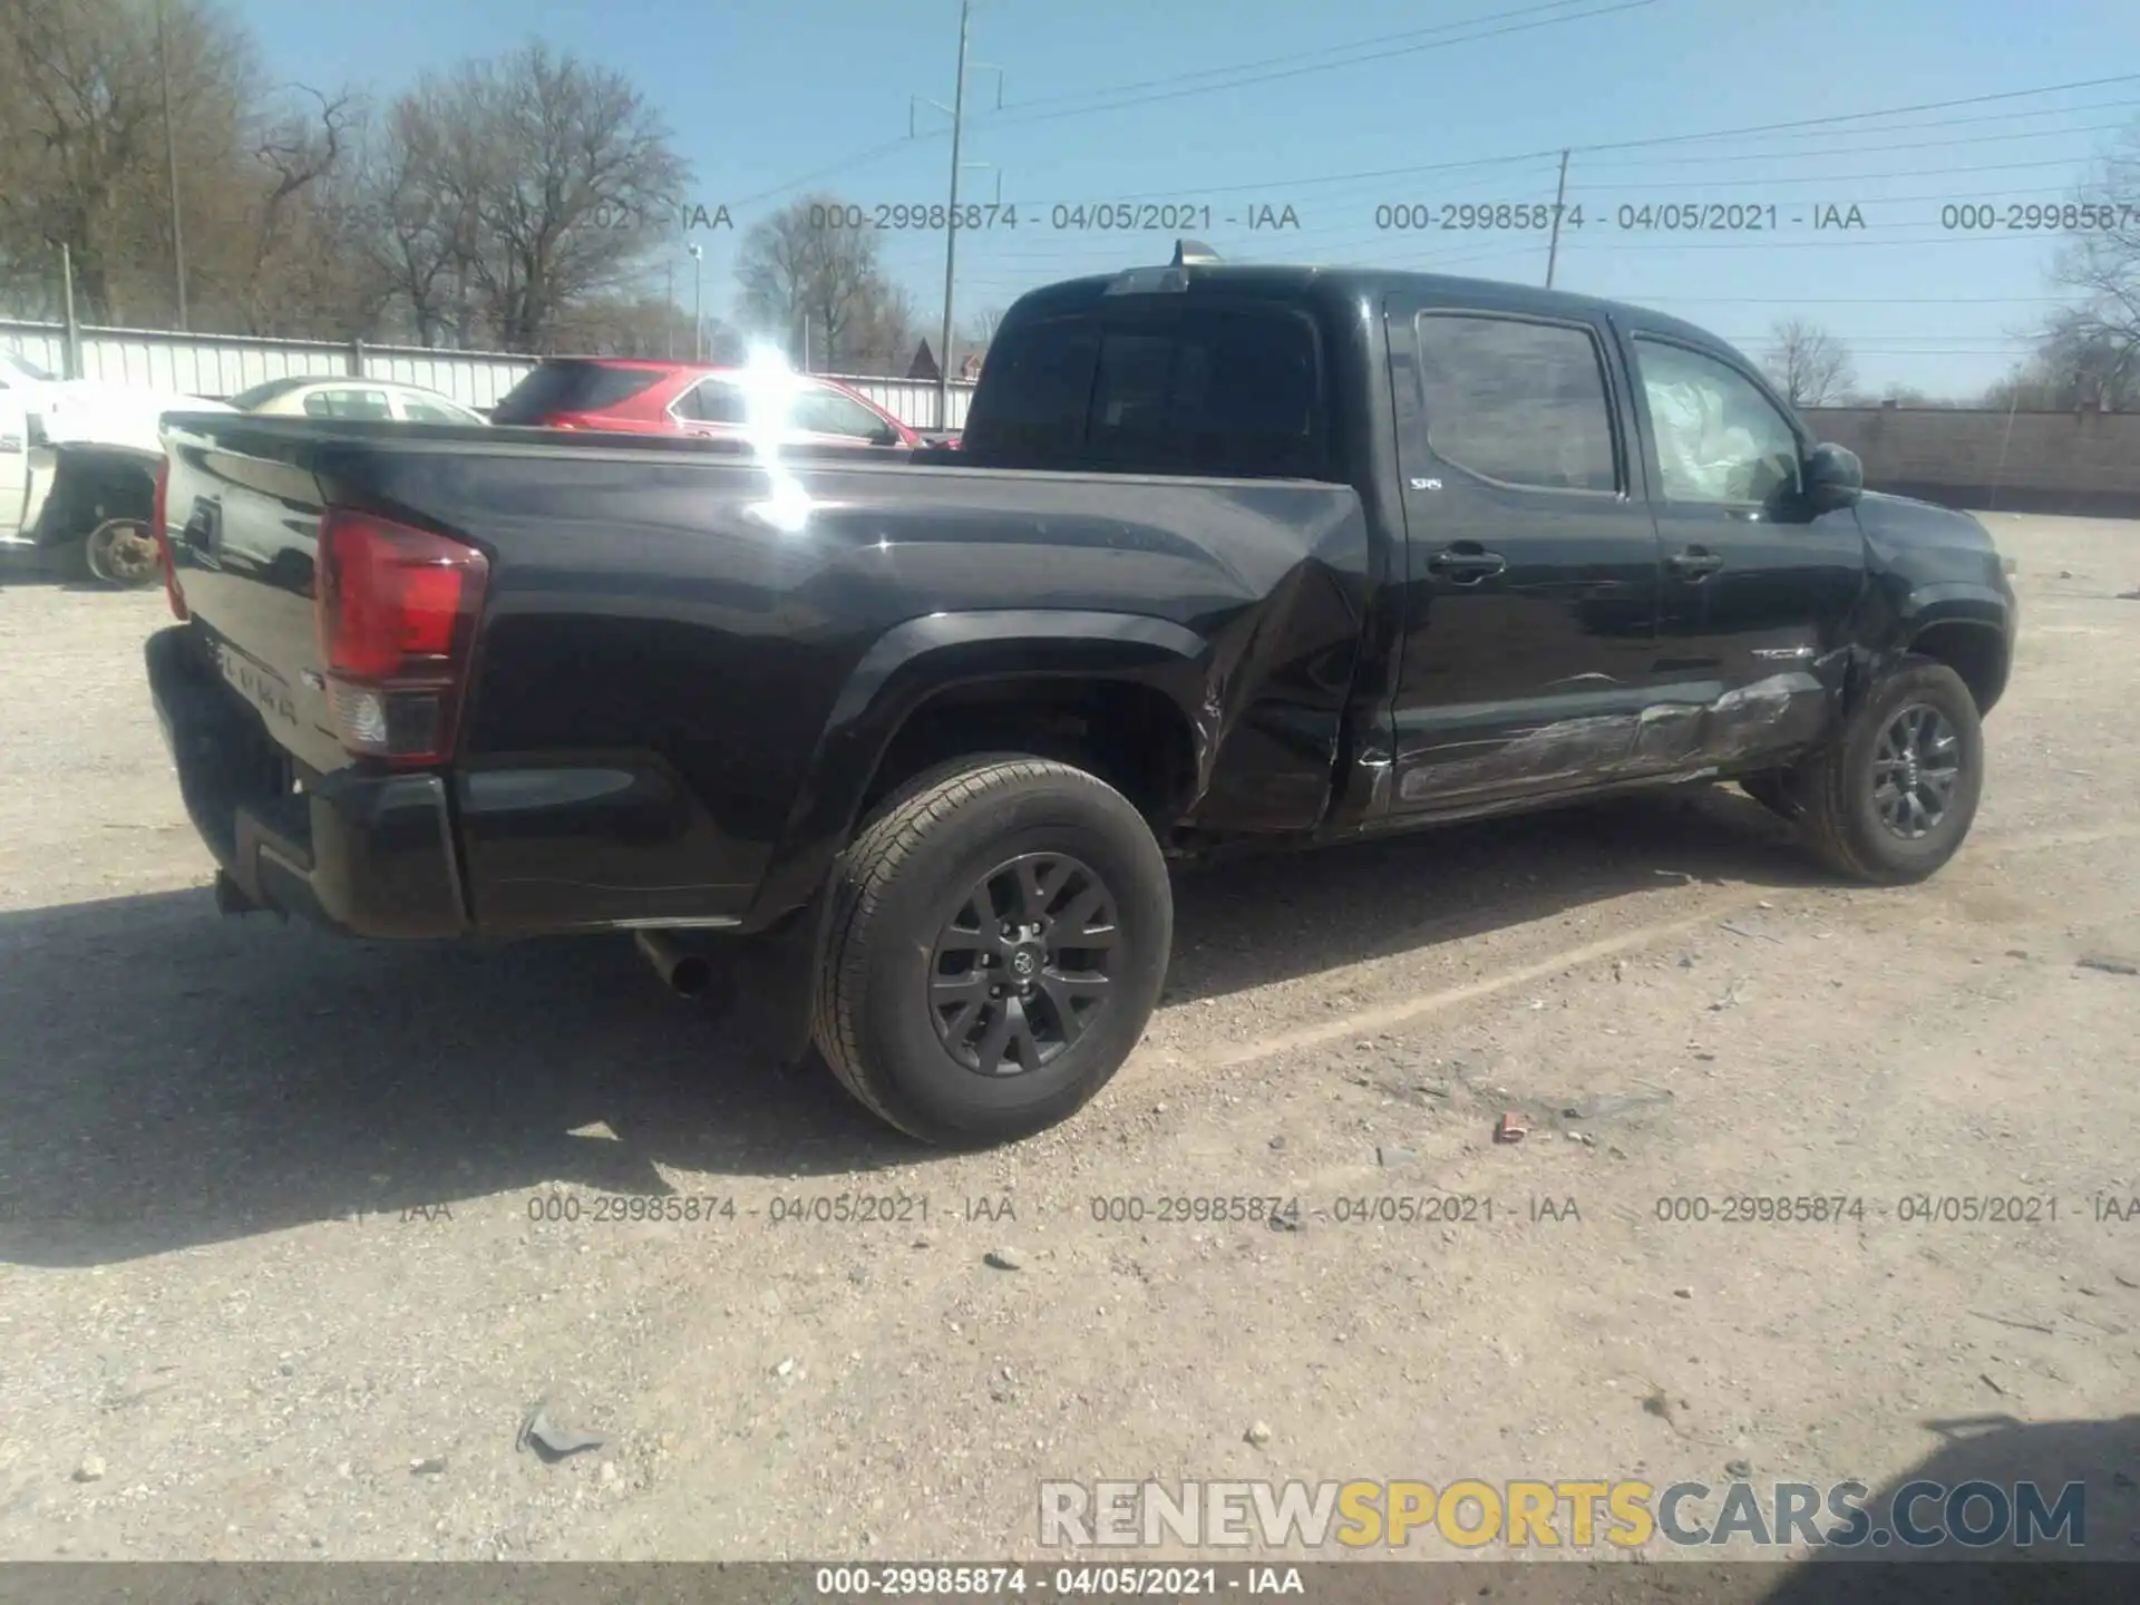
[(1314, 325), (1290, 310), (1183, 306), (1151, 321), (1055, 319), (989, 351), (963, 449), (1226, 477), (1325, 467)]

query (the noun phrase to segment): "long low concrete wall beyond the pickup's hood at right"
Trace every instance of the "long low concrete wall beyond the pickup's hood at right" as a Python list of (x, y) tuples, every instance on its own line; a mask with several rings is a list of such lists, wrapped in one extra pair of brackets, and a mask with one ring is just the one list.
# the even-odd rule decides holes
[(1866, 488), (1947, 507), (2140, 516), (2140, 413), (1810, 407), (1808, 428), (1866, 464)]

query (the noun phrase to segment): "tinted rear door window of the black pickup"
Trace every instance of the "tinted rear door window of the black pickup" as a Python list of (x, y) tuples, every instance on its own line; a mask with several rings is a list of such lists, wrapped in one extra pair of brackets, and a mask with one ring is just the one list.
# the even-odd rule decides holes
[(1596, 338), (1560, 323), (1423, 312), (1427, 445), (1457, 469), (1541, 490), (1620, 488)]

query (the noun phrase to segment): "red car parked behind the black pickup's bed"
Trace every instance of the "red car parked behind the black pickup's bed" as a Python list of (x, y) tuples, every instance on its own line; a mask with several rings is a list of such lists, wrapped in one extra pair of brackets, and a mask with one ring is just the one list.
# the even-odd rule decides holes
[[(550, 357), (505, 392), (492, 424), (625, 434), (743, 434), (740, 368), (642, 357)], [(914, 449), (922, 437), (830, 379), (802, 379), (794, 441)]]

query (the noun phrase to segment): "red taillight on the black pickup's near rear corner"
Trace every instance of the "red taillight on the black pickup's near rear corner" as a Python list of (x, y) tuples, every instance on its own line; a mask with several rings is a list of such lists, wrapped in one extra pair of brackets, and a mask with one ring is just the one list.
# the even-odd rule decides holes
[(490, 559), (370, 514), (319, 520), (319, 657), (342, 747), (389, 764), (441, 764), (467, 687)]

